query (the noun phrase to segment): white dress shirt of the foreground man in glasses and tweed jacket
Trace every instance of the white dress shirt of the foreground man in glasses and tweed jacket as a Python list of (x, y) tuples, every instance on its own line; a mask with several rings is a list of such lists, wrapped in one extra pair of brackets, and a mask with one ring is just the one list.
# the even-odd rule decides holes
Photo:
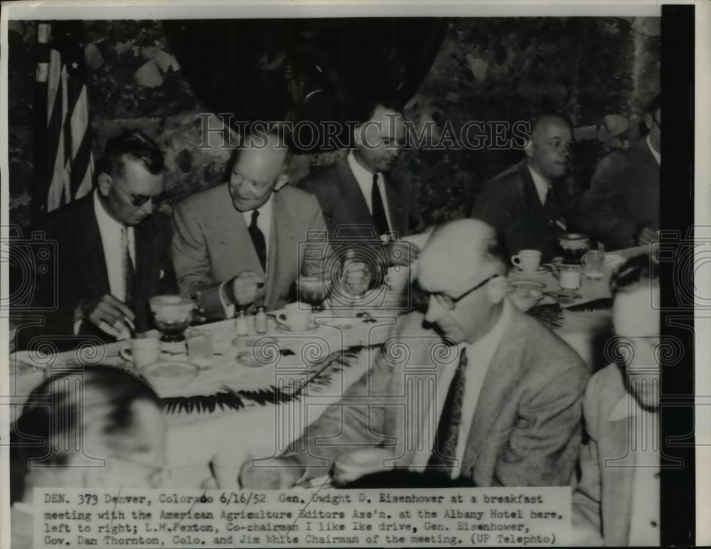
[[(486, 378), (488, 368), (491, 366), (491, 359), (494, 353), (496, 353), (496, 349), (501, 343), (503, 334), (508, 326), (511, 316), (511, 307), (513, 307), (513, 305), (510, 304), (508, 299), (504, 299), (501, 317), (488, 334), (483, 336), (479, 341), (475, 341), (474, 343), (461, 343), (459, 346), (461, 352), (466, 353), (467, 364), (466, 374), (464, 375), (464, 396), (462, 398), (461, 420), (459, 422), (459, 438), (456, 444), (456, 464), (451, 470), (452, 479), (456, 479), (461, 473), (461, 462), (462, 459), (464, 459), (466, 439), (469, 437), (471, 422), (474, 420), (476, 403), (479, 402), (481, 387), (484, 383), (484, 378)], [(454, 378), (458, 364), (459, 360), (442, 367), (439, 371), (439, 375), (437, 375), (437, 416), (435, 417), (436, 421), (434, 421), (434, 432), (437, 432), (439, 419), (442, 416), (442, 408), (444, 408), (444, 401), (447, 400), (449, 385), (451, 385), (451, 380)], [(434, 435), (429, 437), (430, 432), (428, 425), (424, 425), (422, 441), (424, 447), (427, 447), (428, 450), (425, 452), (426, 455), (423, 454), (416, 457), (412, 467), (412, 469), (416, 471), (424, 471), (424, 468), (427, 467), (427, 460), (432, 454)]]

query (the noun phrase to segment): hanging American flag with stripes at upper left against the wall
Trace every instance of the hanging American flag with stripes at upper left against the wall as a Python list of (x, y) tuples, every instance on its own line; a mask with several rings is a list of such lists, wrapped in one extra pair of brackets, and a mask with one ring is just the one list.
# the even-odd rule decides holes
[[(92, 188), (89, 105), (81, 23), (38, 23), (38, 180), (34, 199), (50, 212)], [(45, 202), (46, 198), (46, 202)]]

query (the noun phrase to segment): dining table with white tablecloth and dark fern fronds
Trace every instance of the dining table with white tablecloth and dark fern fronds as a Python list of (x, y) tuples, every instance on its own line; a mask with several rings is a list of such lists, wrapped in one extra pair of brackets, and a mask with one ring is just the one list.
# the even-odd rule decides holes
[[(646, 251), (646, 247), (637, 247), (609, 254), (614, 261), (606, 262), (603, 277), (583, 277), (579, 298), (558, 305), (560, 321), (552, 329), (591, 370), (595, 368), (592, 342), (599, 330), (609, 326), (611, 312), (609, 307), (585, 310), (584, 304), (609, 298), (614, 266)], [(542, 282), (548, 293), (541, 305), (556, 307), (550, 296), (559, 286), (549, 269), (535, 274), (510, 272), (508, 277), (510, 282)], [(314, 311), (309, 328), (298, 333), (277, 323), (274, 314), (269, 314), (263, 334), (255, 333), (250, 324), (249, 332), (238, 336), (235, 319), (197, 326), (210, 339), (212, 358), (198, 363), (196, 373), (188, 379), (173, 380), (169, 385), (154, 383), (166, 414), (166, 486), (215, 487), (211, 464), (217, 456), (229, 456), (235, 464), (234, 486), (230, 487), (236, 489), (242, 462), (284, 452), (372, 366), (398, 316), (408, 309), (403, 305), (405, 299), (405, 294), (390, 292), (387, 287), (373, 289), (367, 302), (361, 299), (350, 307)], [(582, 310), (568, 311), (571, 307), (581, 309), (576, 306), (583, 306)], [(122, 358), (121, 351), (127, 346), (127, 341), (117, 341), (55, 354), (11, 353), (11, 390), (15, 395), (11, 416), (21, 409), (23, 395), (53, 371), (95, 364), (135, 371), (132, 363)], [(190, 362), (191, 357), (185, 348), (181, 351), (171, 345), (161, 353), (161, 361)]]

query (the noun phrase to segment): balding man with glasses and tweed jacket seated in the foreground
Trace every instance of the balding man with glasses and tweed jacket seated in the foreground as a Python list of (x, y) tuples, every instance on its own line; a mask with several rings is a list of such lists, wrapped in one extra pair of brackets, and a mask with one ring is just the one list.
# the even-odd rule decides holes
[[(292, 449), (245, 463), (242, 486), (285, 488), (329, 469), (343, 483), (387, 467), (476, 486), (570, 484), (587, 368), (508, 301), (506, 271), (486, 223), (435, 229), (419, 257), (426, 314), (401, 316), (372, 370)], [(407, 390), (432, 383), (424, 401)]]

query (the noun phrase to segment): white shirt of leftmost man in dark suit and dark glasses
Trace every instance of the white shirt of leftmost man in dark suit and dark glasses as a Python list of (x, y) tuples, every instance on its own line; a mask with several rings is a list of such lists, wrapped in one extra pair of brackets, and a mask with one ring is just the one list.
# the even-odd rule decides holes
[(131, 256), (135, 271), (136, 242), (134, 239), (134, 228), (122, 225), (109, 215), (99, 198), (98, 189), (94, 191), (94, 213), (99, 225), (101, 243), (104, 247), (106, 272), (109, 275), (109, 291), (119, 302), (124, 302), (126, 299), (126, 287), (122, 265), (123, 250), (121, 249), (121, 232), (122, 230), (126, 230), (127, 232), (129, 255)]

